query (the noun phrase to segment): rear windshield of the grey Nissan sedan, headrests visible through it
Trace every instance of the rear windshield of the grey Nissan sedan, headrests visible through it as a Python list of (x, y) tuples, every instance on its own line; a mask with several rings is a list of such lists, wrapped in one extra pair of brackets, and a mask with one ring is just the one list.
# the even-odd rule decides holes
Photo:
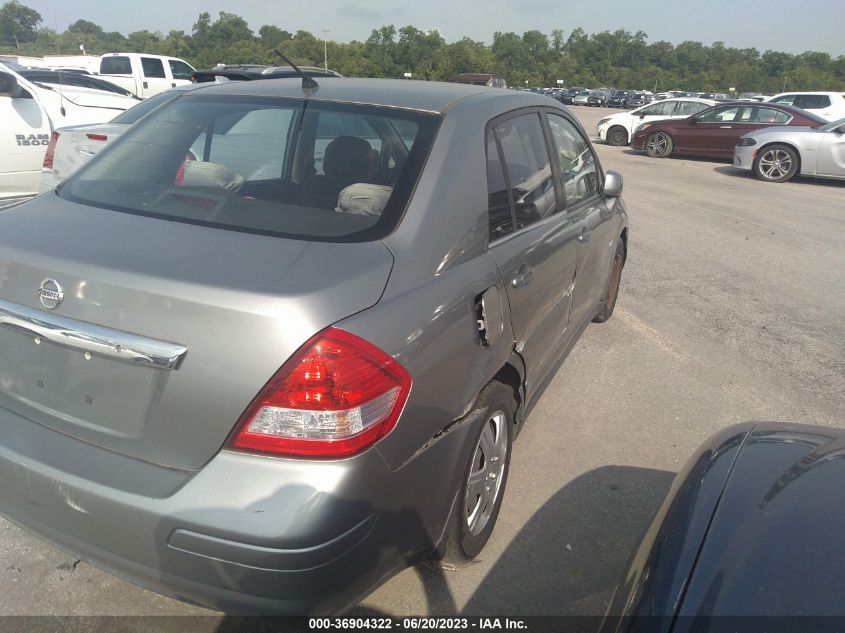
[(59, 195), (249, 233), (380, 239), (402, 216), (439, 122), (375, 106), (187, 95), (133, 126)]

